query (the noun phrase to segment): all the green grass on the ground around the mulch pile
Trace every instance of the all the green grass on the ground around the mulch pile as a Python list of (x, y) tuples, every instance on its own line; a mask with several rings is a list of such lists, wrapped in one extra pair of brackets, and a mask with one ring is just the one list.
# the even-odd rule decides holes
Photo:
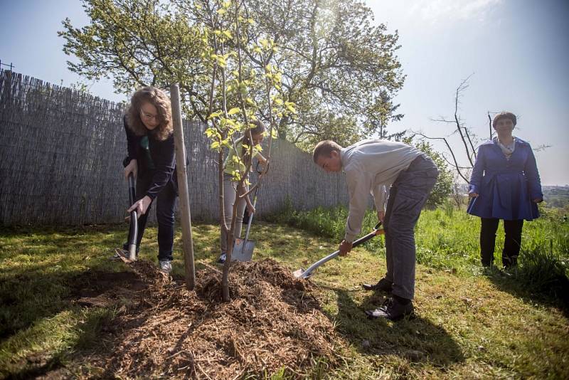
[[(286, 222), (302, 229), (255, 222), (255, 259), (275, 258), (294, 270), (336, 250), (345, 210), (297, 213), (295, 218)], [(383, 322), (363, 314), (381, 302), (360, 284), (385, 272), (382, 238), (326, 263), (312, 281), (346, 348), (338, 352), (339, 366), (331, 369), (315, 359), (307, 376), (569, 378), (568, 313), (546, 290), (543, 270), (536, 270), (549, 265), (557, 275), (566, 274), (569, 230), (555, 218), (524, 226), (520, 269), (502, 273), (479, 268), (477, 218), (450, 207), (424, 211), (416, 230), (415, 320)], [(369, 214), (364, 230), (373, 224)], [(125, 226), (0, 230), (0, 378), (23, 379), (62, 367), (73, 371), (81, 353), (100, 344), (102, 325), (119, 305), (84, 308), (72, 302), (73, 294), (78, 281), (92, 272), (125, 270), (107, 260), (125, 231)], [(180, 239), (176, 231), (175, 277), (184, 275)], [(193, 226), (193, 241), (198, 268), (216, 260), (217, 226)], [(141, 256), (156, 260), (156, 251), (156, 228), (148, 228)], [(287, 376), (285, 370), (267, 374)]]

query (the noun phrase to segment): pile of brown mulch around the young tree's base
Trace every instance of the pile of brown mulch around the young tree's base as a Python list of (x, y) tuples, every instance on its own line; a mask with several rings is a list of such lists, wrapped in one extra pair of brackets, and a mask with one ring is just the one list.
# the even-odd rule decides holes
[(312, 285), (274, 260), (234, 263), (230, 302), (221, 300), (216, 268), (196, 273), (189, 291), (146, 260), (129, 266), (147, 287), (103, 328), (111, 332), (111, 352), (88, 358), (104, 377), (233, 379), (282, 367), (302, 374), (314, 357), (335, 362), (341, 342)]

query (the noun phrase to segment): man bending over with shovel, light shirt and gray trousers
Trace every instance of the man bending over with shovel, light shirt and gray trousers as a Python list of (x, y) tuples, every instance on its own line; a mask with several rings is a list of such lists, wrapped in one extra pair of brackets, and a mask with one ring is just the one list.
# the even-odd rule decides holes
[[(387, 273), (366, 290), (391, 292), (376, 310), (366, 310), (371, 318), (400, 320), (413, 314), (415, 292), (414, 228), (421, 209), (437, 181), (437, 166), (425, 154), (403, 142), (368, 139), (342, 148), (336, 142), (321, 141), (314, 148), (314, 162), (325, 171), (346, 172), (349, 215), (340, 255), (347, 255), (361, 231), (368, 194), (376, 204), (385, 230)], [(385, 189), (390, 194), (385, 209)]]

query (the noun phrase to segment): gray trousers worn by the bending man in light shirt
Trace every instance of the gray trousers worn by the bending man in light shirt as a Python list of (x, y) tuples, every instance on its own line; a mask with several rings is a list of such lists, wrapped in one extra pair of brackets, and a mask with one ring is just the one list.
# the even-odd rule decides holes
[(437, 165), (421, 155), (398, 175), (389, 192), (383, 221), (385, 279), (393, 283), (393, 295), (408, 300), (415, 294), (415, 224), (438, 175)]

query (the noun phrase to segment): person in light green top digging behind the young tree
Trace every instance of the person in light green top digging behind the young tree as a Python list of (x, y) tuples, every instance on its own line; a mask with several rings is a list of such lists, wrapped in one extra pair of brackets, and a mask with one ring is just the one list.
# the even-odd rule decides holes
[[(250, 125), (253, 125), (253, 127), (245, 130), (243, 136), (235, 141), (234, 147), (229, 149), (228, 157), (223, 163), (223, 211), (225, 223), (228, 228), (231, 227), (231, 219), (233, 218), (233, 204), (235, 204), (237, 195), (235, 189), (237, 189), (239, 185), (239, 181), (235, 181), (235, 179), (249, 175), (245, 171), (251, 163), (252, 158), (257, 158), (262, 164), (267, 162), (265, 157), (262, 157), (262, 154), (255, 149), (255, 146), (262, 142), (267, 128), (260, 120), (252, 120)], [(249, 135), (252, 141), (250, 141)], [(251, 146), (253, 147), (252, 154), (250, 154)], [(238, 174), (238, 176), (236, 177), (235, 174)], [(238, 189), (238, 194), (245, 194), (247, 191), (249, 191), (249, 186), (244, 182), (243, 186)], [(251, 203), (249, 195), (238, 199), (237, 217), (235, 218), (235, 238), (241, 236), (245, 207), (247, 207), (249, 214), (255, 213), (255, 207)], [(223, 228), (221, 228), (220, 246), (221, 254), (218, 258), (218, 263), (223, 264), (225, 263), (228, 250), (228, 234), (225, 233)]]

